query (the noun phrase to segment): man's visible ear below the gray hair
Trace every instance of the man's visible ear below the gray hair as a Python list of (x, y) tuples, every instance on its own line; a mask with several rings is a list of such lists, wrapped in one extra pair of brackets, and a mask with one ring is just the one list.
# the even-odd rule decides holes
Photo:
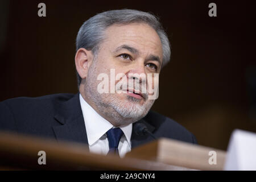
[(76, 70), (82, 79), (87, 77), (92, 60), (92, 51), (88, 51), (85, 48), (77, 50), (75, 56)]

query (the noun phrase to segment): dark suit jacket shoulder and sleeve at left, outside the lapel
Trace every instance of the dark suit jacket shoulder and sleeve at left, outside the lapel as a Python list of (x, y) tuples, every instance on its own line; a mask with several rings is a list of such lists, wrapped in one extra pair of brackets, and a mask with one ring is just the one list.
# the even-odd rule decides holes
[[(0, 102), (0, 130), (36, 133), (51, 126), (55, 109), (74, 94), (17, 97)], [(50, 130), (49, 130), (50, 131)]]

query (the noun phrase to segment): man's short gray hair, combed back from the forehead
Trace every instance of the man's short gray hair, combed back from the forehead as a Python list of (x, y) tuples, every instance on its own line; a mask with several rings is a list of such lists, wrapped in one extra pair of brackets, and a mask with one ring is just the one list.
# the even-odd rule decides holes
[[(102, 40), (104, 40), (104, 32), (106, 28), (113, 24), (129, 24), (129, 23), (146, 23), (157, 32), (163, 49), (163, 64), (166, 65), (170, 61), (171, 49), (170, 42), (166, 32), (159, 22), (159, 18), (153, 14), (138, 10), (111, 10), (97, 14), (86, 20), (79, 29), (76, 38), (76, 51), (80, 48), (91, 50), (93, 55), (97, 54), (98, 48)], [(76, 72), (77, 73), (77, 72)], [(77, 84), (81, 83), (81, 77), (77, 73)]]

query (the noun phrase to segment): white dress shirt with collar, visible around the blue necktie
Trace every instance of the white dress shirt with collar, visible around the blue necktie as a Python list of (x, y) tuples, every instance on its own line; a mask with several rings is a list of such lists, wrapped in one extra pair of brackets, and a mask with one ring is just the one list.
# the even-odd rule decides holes
[[(109, 141), (106, 132), (114, 126), (105, 118), (101, 117), (101, 115), (82, 98), (81, 94), (79, 98), (82, 115), (84, 116), (89, 150), (96, 154), (106, 155), (109, 152)], [(131, 131), (133, 124), (122, 126), (120, 129), (123, 131), (124, 135), (120, 139), (118, 151), (119, 156), (123, 158), (127, 152), (131, 151)]]

